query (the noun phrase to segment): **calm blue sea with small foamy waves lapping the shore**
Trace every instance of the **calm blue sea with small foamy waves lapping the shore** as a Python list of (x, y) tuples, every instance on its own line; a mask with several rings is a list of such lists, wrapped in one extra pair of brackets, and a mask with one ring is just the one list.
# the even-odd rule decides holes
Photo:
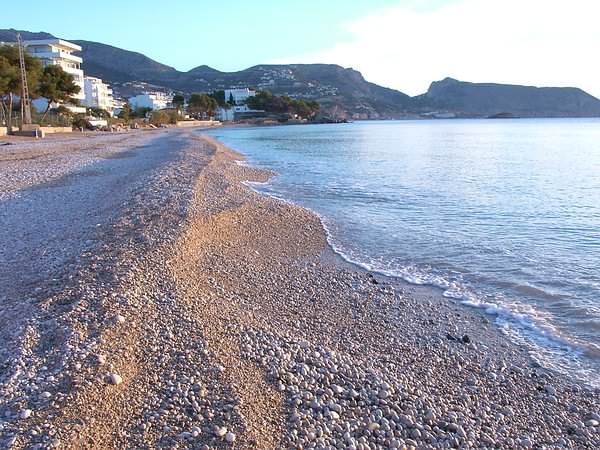
[(485, 309), (542, 364), (600, 384), (600, 120), (211, 131), (279, 173), (346, 259)]

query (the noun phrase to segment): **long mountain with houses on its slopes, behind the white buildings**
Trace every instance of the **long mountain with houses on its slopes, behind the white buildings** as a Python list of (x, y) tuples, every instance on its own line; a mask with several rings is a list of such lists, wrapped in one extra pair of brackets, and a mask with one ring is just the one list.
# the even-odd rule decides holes
[(82, 47), (84, 72), (112, 83), (115, 92), (124, 96), (146, 89), (147, 84), (188, 93), (253, 86), (316, 100), (327, 113), (354, 119), (402, 117), (411, 103), (408, 95), (333, 64), (258, 65), (239, 72), (202, 65), (180, 72), (140, 53), (98, 42), (72, 42)]

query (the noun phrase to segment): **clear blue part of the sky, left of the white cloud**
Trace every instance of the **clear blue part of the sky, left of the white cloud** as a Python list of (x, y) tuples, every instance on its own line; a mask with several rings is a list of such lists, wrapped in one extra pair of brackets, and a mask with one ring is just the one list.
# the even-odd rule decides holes
[[(139, 51), (179, 70), (240, 70), (348, 39), (343, 25), (394, 0), (13, 2), (2, 28), (47, 31)], [(51, 5), (51, 7), (50, 7)]]

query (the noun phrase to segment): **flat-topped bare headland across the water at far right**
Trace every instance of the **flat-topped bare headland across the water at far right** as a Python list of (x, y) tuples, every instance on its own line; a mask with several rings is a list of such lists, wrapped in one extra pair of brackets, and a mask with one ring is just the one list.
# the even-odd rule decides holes
[(467, 83), (445, 78), (417, 99), (425, 109), (466, 116), (600, 116), (600, 100), (578, 88)]

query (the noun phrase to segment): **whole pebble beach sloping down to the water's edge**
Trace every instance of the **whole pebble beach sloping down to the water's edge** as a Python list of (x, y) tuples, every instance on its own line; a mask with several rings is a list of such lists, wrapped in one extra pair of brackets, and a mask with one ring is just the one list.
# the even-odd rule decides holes
[(0, 448), (600, 448), (598, 389), (344, 262), (242, 159), (188, 130), (0, 146)]

